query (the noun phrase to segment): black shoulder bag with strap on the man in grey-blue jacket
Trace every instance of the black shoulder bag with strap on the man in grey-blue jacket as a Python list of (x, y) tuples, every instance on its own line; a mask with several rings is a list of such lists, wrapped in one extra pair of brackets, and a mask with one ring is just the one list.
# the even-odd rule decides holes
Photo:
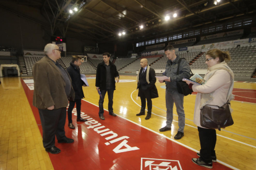
[[(178, 66), (177, 66), (177, 75), (179, 75), (179, 67), (181, 65), (181, 60), (184, 59), (186, 60), (185, 58), (181, 58), (178, 60)], [(190, 68), (189, 68), (190, 69)], [(191, 72), (191, 75), (190, 76), (193, 76), (193, 73), (192, 71), (190, 70)], [(185, 82), (185, 81), (177, 81), (177, 91), (180, 93), (180, 94), (183, 94), (183, 95), (189, 95), (189, 94), (192, 94), (192, 89), (189, 89), (189, 85)]]

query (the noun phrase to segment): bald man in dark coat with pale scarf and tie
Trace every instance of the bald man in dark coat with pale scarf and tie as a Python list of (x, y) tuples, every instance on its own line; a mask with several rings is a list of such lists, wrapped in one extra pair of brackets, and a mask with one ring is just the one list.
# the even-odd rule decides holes
[(147, 59), (140, 60), (140, 68), (139, 74), (137, 75), (138, 86), (139, 89), (138, 96), (142, 102), (142, 108), (140, 109), (140, 113), (136, 116), (145, 115), (145, 108), (146, 108), (146, 99), (148, 103), (148, 113), (146, 116), (146, 120), (151, 118), (151, 111), (152, 111), (152, 101), (158, 97), (158, 91), (156, 89), (156, 73), (153, 68), (150, 68), (148, 65)]

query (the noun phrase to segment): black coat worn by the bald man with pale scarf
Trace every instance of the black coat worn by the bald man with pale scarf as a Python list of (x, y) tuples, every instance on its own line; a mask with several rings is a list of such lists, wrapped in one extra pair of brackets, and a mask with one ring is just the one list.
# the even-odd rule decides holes
[[(143, 69), (140, 69), (140, 73), (139, 73), (140, 75), (139, 76), (141, 76), (142, 70)], [(145, 73), (145, 75), (146, 75), (146, 73)], [(158, 91), (157, 91), (156, 85), (155, 85), (155, 83), (156, 83), (156, 77), (155, 76), (156, 76), (155, 70), (153, 68), (150, 68), (150, 71), (149, 71), (149, 81), (150, 81), (150, 84), (147, 83), (147, 86), (148, 86), (147, 87), (147, 91), (150, 92), (151, 99), (155, 99), (155, 98), (158, 97)], [(140, 84), (140, 82), (138, 82), (137, 89), (139, 89), (139, 93), (138, 93), (139, 97), (140, 97), (140, 88), (145, 89), (145, 88), (141, 87), (141, 85), (142, 84)]]

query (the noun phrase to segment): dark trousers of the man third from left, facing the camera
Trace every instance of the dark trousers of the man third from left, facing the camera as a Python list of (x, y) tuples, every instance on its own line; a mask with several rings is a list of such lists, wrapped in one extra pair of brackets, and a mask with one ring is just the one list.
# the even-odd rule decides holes
[(99, 115), (103, 115), (104, 113), (103, 103), (104, 103), (106, 92), (108, 92), (108, 112), (113, 113), (114, 90), (100, 90), (100, 92), (103, 99), (101, 99), (100, 97), (100, 100), (99, 100), (99, 108), (100, 108)]

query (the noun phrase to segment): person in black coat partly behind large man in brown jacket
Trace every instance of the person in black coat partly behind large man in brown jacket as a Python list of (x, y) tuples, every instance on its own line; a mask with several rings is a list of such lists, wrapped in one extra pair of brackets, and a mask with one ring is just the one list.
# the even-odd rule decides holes
[(81, 118), (81, 99), (85, 96), (83, 95), (83, 81), (80, 75), (80, 65), (82, 65), (82, 57), (73, 55), (72, 62), (70, 62), (67, 72), (69, 72), (70, 78), (72, 79), (72, 86), (75, 91), (75, 100), (69, 102), (69, 108), (67, 110), (67, 118), (69, 119), (69, 128), (75, 129), (75, 126), (72, 124), (72, 110), (77, 105), (77, 121), (87, 121), (87, 119)]

